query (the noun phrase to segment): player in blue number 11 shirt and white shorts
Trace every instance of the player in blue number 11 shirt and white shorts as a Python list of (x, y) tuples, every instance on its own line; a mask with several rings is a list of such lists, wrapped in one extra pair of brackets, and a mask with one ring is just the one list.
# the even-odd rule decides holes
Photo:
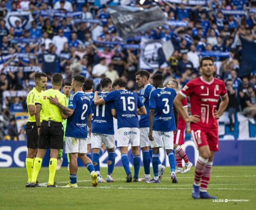
[[(99, 98), (106, 96), (112, 89), (112, 81), (109, 78), (102, 78), (100, 80), (102, 92), (98, 93)], [(114, 137), (114, 123), (113, 115), (116, 110), (113, 102), (104, 103), (102, 105), (92, 104), (93, 120), (92, 120), (92, 162), (98, 174), (98, 181), (101, 182), (114, 182), (112, 172), (115, 165), (115, 137)], [(100, 149), (102, 143), (107, 148), (107, 179), (104, 181), (100, 175)]]

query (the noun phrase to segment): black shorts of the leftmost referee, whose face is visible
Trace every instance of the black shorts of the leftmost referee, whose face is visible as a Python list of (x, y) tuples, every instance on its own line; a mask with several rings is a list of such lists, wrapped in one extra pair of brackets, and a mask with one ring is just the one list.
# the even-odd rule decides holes
[(27, 122), (26, 135), (28, 137), (27, 148), (37, 149), (38, 133), (36, 122)]

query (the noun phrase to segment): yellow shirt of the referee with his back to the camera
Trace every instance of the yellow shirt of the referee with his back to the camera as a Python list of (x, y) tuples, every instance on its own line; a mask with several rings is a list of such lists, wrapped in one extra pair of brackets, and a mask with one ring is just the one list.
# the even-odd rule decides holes
[(40, 115), (40, 120), (48, 121), (50, 118), (54, 122), (62, 122), (62, 116), (61, 116), (61, 109), (48, 100), (48, 98), (52, 96), (59, 99), (59, 102), (67, 107), (67, 97), (63, 93), (61, 93), (59, 90), (49, 89), (46, 91), (43, 91), (41, 93), (40, 97), (36, 100), (36, 103), (39, 103), (42, 105), (42, 117)]

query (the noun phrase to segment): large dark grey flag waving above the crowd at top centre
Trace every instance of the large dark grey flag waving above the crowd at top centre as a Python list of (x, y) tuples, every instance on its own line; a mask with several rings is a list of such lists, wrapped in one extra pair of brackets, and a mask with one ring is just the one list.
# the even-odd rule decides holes
[(140, 10), (130, 6), (109, 6), (109, 13), (114, 26), (123, 38), (128, 38), (139, 31), (167, 25), (167, 19), (159, 6)]

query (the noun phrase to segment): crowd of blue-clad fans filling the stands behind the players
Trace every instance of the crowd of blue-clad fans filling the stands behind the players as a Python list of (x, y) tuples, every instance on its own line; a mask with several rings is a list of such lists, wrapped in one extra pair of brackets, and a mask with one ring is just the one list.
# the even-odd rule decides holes
[[(128, 40), (129, 44), (139, 44), (141, 37), (172, 41), (175, 51), (167, 65), (149, 69), (151, 75), (161, 73), (166, 82), (174, 78), (182, 88), (199, 75), (200, 53), (218, 52), (214, 55), (216, 77), (227, 85), (232, 131), (232, 114), (236, 111), (255, 123), (256, 71), (252, 69), (250, 75), (242, 78), (237, 77), (237, 72), (242, 50), (240, 35), (256, 41), (256, 1), (206, 2), (206, 5), (187, 5), (175, 0), (121, 1), (143, 8), (160, 5), (168, 21), (187, 21), (186, 27), (161, 26)], [(228, 10), (244, 13), (229, 15)], [(113, 44), (117, 42), (120, 45)], [(100, 78), (109, 77), (113, 81), (121, 77), (127, 81), (128, 90), (138, 91), (135, 73), (140, 69), (140, 50), (123, 48), (121, 43), (106, 6), (100, 6), (99, 1), (1, 0), (0, 139), (18, 139), (24, 129), (17, 131), (14, 113), (27, 112), (26, 95), (19, 92), (5, 97), (3, 92), (30, 91), (35, 85), (35, 72), (41, 69), (49, 81), (54, 72), (61, 72), (64, 81), (81, 74), (92, 78), (94, 90), (99, 90)]]

